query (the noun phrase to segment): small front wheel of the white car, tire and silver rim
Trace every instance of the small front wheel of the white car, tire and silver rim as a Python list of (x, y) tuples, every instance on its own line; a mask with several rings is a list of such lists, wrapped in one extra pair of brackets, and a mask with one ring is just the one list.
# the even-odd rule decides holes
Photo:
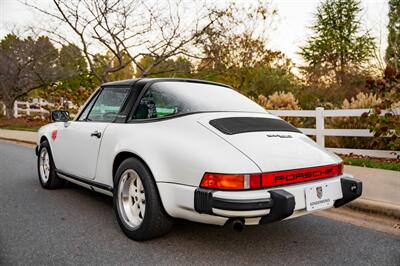
[(53, 155), (47, 140), (40, 143), (37, 169), (39, 181), (43, 188), (55, 189), (64, 186), (65, 180), (59, 178), (56, 174)]

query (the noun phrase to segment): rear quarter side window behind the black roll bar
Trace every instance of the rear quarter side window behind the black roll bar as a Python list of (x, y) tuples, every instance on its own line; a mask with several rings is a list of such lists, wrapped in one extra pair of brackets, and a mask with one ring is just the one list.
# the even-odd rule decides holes
[(178, 100), (159, 88), (150, 88), (142, 97), (133, 119), (149, 119), (178, 113)]

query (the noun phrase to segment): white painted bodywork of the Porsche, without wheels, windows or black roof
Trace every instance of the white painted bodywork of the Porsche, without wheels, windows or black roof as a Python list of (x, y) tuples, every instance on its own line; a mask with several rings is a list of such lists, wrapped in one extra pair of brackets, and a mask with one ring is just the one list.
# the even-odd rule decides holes
[[(39, 130), (37, 143), (40, 145), (44, 139), (48, 140), (61, 178), (110, 196), (113, 195), (113, 177), (121, 159), (127, 156), (140, 158), (154, 177), (168, 215), (207, 224), (224, 225), (232, 219), (242, 219), (245, 224), (264, 223), (262, 218), (272, 212), (272, 207), (223, 209), (210, 203), (210, 206), (203, 208), (199, 201), (256, 203), (257, 200), (271, 199), (273, 191), (284, 190), (293, 196), (293, 210), (270, 219), (275, 221), (314, 211), (310, 203), (318, 200), (317, 187), (322, 190), (321, 197), (327, 200), (316, 204), (315, 210), (333, 207), (335, 202), (338, 207), (361, 194), (361, 182), (348, 174), (340, 174), (279, 187), (212, 190), (207, 195), (198, 192), (200, 196), (195, 196), (205, 173), (262, 174), (342, 163), (338, 156), (299, 132), (225, 134), (210, 124), (212, 120), (232, 117), (281, 120), (261, 107), (259, 112), (199, 112), (143, 123), (75, 120), (43, 126)], [(100, 132), (101, 137), (93, 137), (94, 132)], [(349, 182), (354, 192), (351, 196), (348, 195), (349, 191), (344, 191)], [(274, 203), (277, 202), (274, 199)], [(266, 219), (265, 222), (270, 221)]]

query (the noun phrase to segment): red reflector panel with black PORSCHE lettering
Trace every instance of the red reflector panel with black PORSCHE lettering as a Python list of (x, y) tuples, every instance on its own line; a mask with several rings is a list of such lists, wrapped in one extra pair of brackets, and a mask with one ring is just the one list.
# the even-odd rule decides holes
[(263, 173), (261, 178), (262, 187), (276, 187), (287, 184), (300, 183), (321, 178), (341, 175), (342, 164), (318, 166), (304, 169)]

